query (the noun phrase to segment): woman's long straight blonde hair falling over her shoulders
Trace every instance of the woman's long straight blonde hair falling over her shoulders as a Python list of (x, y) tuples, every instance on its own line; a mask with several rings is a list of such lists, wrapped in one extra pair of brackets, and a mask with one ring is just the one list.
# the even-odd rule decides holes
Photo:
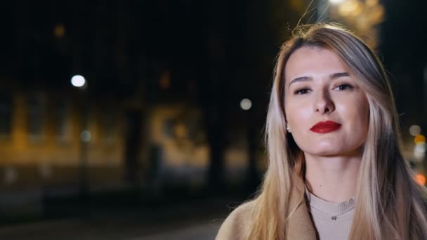
[(284, 67), (289, 56), (304, 46), (339, 55), (361, 80), (369, 102), (349, 239), (426, 239), (426, 188), (416, 185), (400, 152), (398, 114), (383, 66), (357, 36), (325, 23), (298, 27), (277, 57), (265, 131), (269, 164), (254, 201), (247, 239), (286, 239), (287, 220), (304, 201), (304, 156), (287, 134), (284, 114)]

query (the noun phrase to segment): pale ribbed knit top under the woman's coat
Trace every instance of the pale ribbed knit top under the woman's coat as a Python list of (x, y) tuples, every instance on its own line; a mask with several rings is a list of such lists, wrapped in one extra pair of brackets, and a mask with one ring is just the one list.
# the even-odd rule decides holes
[(348, 199), (342, 203), (331, 203), (309, 191), (306, 191), (306, 194), (310, 204), (310, 215), (319, 239), (348, 239), (355, 212), (354, 199)]

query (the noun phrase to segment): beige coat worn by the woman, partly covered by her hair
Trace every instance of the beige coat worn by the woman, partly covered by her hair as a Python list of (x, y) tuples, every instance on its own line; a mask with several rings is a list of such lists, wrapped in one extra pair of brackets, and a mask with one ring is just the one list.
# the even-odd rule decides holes
[[(236, 208), (219, 229), (216, 240), (239, 240), (243, 239), (244, 226), (249, 220), (249, 213), (254, 206), (254, 201), (249, 201)], [(289, 240), (315, 240), (316, 232), (306, 203), (298, 206), (291, 216), (287, 226), (287, 239)]]

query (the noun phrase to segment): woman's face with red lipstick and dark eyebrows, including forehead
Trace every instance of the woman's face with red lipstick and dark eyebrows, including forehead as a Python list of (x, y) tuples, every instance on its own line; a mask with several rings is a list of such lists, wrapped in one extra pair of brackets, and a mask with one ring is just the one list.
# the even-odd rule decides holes
[(314, 156), (354, 154), (367, 138), (369, 103), (338, 55), (303, 47), (284, 69), (284, 109), (291, 134)]

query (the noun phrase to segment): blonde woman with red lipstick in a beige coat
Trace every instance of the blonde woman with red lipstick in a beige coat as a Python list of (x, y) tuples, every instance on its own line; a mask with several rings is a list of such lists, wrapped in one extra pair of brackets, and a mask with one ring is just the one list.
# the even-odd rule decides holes
[(427, 239), (390, 83), (346, 29), (299, 27), (282, 46), (265, 140), (261, 191), (217, 239)]

